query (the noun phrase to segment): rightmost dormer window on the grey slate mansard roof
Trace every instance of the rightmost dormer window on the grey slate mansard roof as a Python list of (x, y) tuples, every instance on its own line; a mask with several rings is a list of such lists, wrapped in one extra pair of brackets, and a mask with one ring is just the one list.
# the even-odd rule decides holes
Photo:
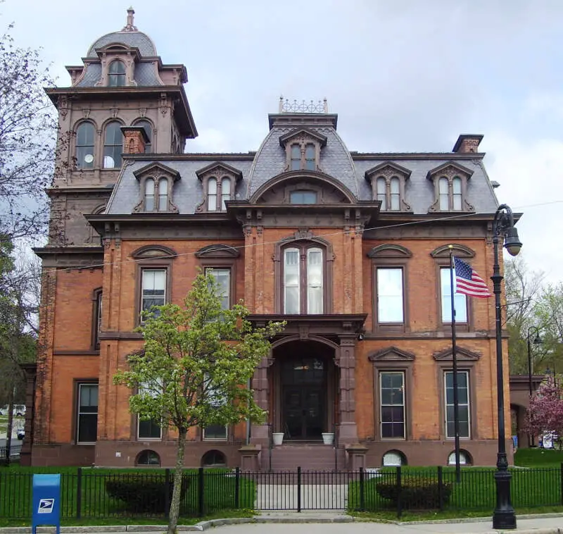
[(466, 198), (472, 174), (471, 169), (453, 162), (430, 170), (427, 178), (434, 182), (436, 200), (429, 211), (474, 211)]

